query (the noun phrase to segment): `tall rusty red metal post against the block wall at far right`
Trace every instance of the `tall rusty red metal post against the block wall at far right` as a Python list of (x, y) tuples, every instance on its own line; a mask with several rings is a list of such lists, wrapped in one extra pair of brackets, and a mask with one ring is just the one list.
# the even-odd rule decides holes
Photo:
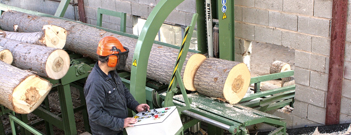
[(347, 0), (333, 0), (325, 124), (339, 124), (344, 73)]

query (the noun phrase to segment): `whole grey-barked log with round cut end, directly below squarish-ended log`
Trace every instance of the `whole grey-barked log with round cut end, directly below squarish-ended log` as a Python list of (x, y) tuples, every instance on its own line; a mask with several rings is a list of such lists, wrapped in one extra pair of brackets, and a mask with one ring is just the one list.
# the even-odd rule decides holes
[(0, 38), (0, 46), (13, 53), (12, 65), (31, 70), (39, 76), (61, 79), (66, 75), (70, 60), (65, 50), (38, 46), (29, 43)]

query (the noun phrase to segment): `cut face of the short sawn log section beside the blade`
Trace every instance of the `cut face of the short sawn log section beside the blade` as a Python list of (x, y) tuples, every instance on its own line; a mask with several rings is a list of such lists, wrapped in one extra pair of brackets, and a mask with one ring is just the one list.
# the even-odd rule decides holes
[(225, 81), (223, 95), (231, 104), (238, 103), (250, 85), (250, 71), (245, 63), (234, 66)]

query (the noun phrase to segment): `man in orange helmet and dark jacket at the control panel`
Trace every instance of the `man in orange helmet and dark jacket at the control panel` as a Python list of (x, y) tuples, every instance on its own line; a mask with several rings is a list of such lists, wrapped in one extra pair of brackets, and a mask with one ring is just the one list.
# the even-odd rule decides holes
[(93, 135), (122, 135), (125, 127), (133, 127), (131, 124), (137, 123), (137, 119), (127, 117), (127, 108), (134, 112), (150, 108), (134, 99), (116, 72), (117, 68), (125, 67), (128, 52), (128, 48), (112, 36), (106, 36), (99, 42), (98, 62), (84, 86)]

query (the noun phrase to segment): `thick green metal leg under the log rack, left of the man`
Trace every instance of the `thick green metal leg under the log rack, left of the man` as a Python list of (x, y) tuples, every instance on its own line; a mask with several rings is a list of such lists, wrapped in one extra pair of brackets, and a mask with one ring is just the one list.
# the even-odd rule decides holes
[(62, 121), (64, 124), (64, 131), (66, 135), (77, 135), (77, 128), (75, 127), (75, 119), (73, 112), (71, 89), (69, 84), (59, 85), (58, 94), (61, 106)]

